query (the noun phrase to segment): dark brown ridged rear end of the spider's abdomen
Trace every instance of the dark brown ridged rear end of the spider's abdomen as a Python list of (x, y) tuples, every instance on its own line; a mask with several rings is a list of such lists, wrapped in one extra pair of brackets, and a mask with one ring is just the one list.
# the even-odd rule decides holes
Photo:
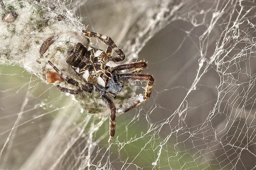
[(87, 48), (83, 44), (77, 43), (69, 52), (66, 62), (73, 67), (79, 67), (82, 62), (87, 62), (86, 54)]

